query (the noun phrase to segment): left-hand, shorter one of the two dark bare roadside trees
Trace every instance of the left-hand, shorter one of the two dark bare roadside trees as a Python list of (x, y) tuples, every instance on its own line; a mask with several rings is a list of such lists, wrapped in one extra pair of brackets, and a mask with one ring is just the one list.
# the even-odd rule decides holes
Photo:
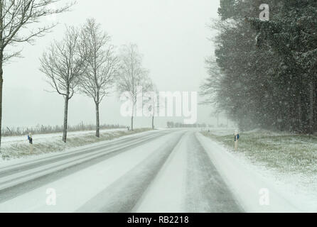
[(86, 57), (78, 46), (80, 33), (69, 27), (61, 42), (55, 41), (41, 57), (41, 72), (48, 83), (65, 100), (63, 141), (66, 143), (68, 129), (68, 102), (75, 93), (80, 77), (85, 72)]

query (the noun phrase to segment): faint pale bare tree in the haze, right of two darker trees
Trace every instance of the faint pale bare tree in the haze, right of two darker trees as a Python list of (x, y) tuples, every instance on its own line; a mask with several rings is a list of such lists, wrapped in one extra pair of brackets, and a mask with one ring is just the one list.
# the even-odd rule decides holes
[[(117, 79), (117, 90), (129, 94), (131, 101), (131, 131), (139, 92), (147, 92), (151, 88), (149, 70), (142, 67), (142, 56), (135, 44), (124, 45), (120, 53), (120, 70)], [(141, 90), (138, 88), (141, 87)]]

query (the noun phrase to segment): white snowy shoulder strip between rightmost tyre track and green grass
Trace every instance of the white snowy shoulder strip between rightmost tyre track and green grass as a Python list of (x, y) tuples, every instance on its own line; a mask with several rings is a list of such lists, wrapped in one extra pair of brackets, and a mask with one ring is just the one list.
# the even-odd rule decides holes
[[(294, 201), (294, 197), (276, 187), (273, 178), (264, 177), (260, 170), (246, 159), (228, 152), (222, 145), (200, 133), (197, 133), (197, 138), (245, 211), (305, 211), (302, 204)], [(267, 199), (263, 197), (266, 195)]]

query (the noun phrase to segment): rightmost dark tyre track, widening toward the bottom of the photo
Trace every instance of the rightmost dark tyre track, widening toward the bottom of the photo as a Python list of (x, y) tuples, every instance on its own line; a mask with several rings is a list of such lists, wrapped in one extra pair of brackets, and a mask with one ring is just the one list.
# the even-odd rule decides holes
[(195, 132), (187, 140), (186, 211), (207, 213), (242, 212), (220, 177)]

